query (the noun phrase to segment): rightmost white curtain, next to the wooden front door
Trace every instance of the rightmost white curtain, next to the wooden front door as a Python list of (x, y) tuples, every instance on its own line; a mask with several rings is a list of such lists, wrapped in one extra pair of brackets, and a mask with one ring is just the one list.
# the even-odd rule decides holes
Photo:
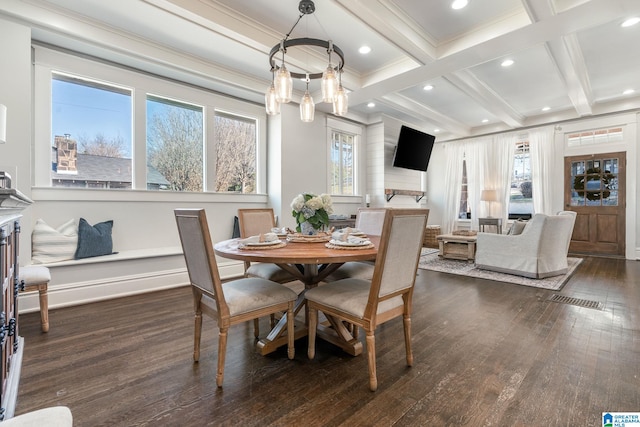
[[(553, 128), (529, 132), (529, 153), (531, 155), (531, 175), (533, 191), (533, 211), (552, 215), (553, 188), (551, 177), (554, 176)], [(512, 156), (513, 157), (513, 156)]]

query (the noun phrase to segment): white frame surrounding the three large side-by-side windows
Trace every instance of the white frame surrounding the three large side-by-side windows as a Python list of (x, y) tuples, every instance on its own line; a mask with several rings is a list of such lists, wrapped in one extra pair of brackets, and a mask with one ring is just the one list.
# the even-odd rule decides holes
[[(256, 147), (256, 194), (266, 194), (266, 113), (264, 107), (226, 97), (209, 90), (196, 88), (190, 84), (163, 79), (142, 72), (136, 72), (124, 67), (93, 61), (84, 57), (57, 51), (47, 47), (34, 46), (34, 187), (43, 189), (57, 189), (59, 192), (69, 189), (51, 186), (51, 79), (52, 72), (59, 72), (98, 80), (114, 86), (124, 86), (133, 89), (133, 119), (132, 119), (132, 158), (133, 183), (132, 190), (94, 190), (109, 193), (127, 191), (148, 192), (151, 196), (158, 192), (146, 190), (146, 99), (147, 94), (178, 99), (183, 102), (203, 105), (205, 112), (205, 164), (204, 191), (212, 193), (208, 188), (215, 188), (215, 142), (213, 141), (214, 115), (216, 109), (227, 114), (251, 117), (256, 119), (257, 147)], [(181, 197), (181, 192), (169, 192), (173, 197)], [(194, 193), (188, 193), (193, 195)], [(230, 197), (251, 196), (237, 193), (224, 194)], [(253, 194), (255, 196), (256, 194)], [(64, 196), (60, 196), (64, 199)], [(109, 198), (119, 198), (110, 194)], [(127, 199), (128, 196), (122, 197)], [(144, 196), (147, 197), (147, 196)], [(166, 196), (160, 196), (162, 198)], [(185, 197), (187, 195), (185, 194)], [(199, 199), (196, 195), (195, 199)]]

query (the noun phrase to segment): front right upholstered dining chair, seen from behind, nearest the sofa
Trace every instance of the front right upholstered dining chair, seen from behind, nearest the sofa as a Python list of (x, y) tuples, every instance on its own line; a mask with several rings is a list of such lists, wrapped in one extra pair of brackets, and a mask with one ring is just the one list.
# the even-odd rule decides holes
[(322, 311), (364, 329), (371, 391), (378, 388), (378, 325), (402, 316), (407, 365), (413, 364), (411, 304), (428, 216), (428, 209), (389, 209), (385, 212), (373, 279), (342, 279), (307, 291), (310, 359), (315, 357), (318, 311)]

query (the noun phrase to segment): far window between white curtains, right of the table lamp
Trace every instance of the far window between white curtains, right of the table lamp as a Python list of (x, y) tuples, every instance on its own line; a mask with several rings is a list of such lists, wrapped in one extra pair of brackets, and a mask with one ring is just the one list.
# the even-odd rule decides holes
[(533, 186), (529, 142), (516, 142), (509, 197), (509, 216), (533, 214)]

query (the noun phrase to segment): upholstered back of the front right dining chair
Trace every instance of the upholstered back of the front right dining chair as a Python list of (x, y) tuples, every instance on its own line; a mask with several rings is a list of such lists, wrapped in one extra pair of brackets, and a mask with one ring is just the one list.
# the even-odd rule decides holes
[(428, 217), (429, 209), (388, 209), (385, 213), (371, 281), (369, 314), (377, 311), (378, 301), (413, 290)]

